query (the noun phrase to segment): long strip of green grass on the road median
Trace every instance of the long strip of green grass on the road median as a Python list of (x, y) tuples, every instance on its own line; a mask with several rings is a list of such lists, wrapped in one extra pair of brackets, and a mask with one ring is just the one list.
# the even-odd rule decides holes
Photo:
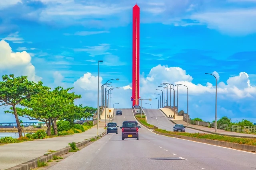
[(224, 142), (230, 142), (230, 143), (256, 146), (255, 138), (252, 139), (252, 138), (228, 137), (228, 136), (206, 134), (206, 133), (183, 133), (183, 132), (181, 133), (181, 132), (166, 131), (163, 129), (155, 129), (155, 131), (158, 131), (160, 133), (170, 134), (170, 135), (180, 135), (180, 136), (187, 136), (187, 137), (195, 137), (199, 139), (211, 139), (216, 141), (224, 141)]

